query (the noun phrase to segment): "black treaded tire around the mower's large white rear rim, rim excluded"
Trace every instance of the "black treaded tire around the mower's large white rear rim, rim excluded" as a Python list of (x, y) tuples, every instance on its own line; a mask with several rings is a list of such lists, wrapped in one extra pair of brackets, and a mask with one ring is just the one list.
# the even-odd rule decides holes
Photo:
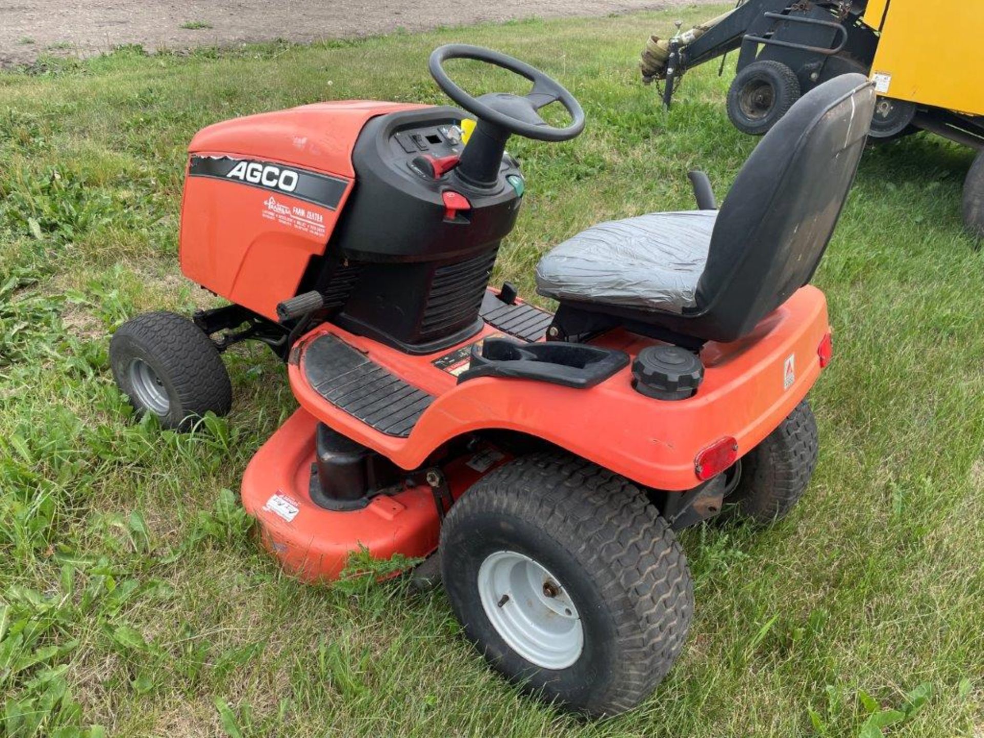
[[(605, 646), (606, 663), (592, 664), (597, 668), (589, 672), (586, 684), (568, 689), (557, 678), (568, 670), (533, 666), (492, 629), (478, 602), (477, 585), (462, 576), (456, 555), (462, 538), (475, 535), (474, 523), (483, 515), (503, 525), (535, 522), (537, 533), (563, 548), (596, 585), (608, 608), (613, 638)], [(672, 530), (639, 487), (589, 461), (550, 452), (494, 469), (452, 507), (441, 530), (441, 552), (442, 578), (468, 639), (507, 678), (549, 702), (593, 715), (636, 707), (670, 670), (686, 641), (693, 585)], [(575, 604), (581, 611), (584, 603)], [(480, 621), (477, 625), (469, 622), (472, 615)], [(490, 644), (482, 630), (495, 634), (492, 641), (499, 639), (501, 646)], [(585, 641), (590, 635), (586, 630)]]

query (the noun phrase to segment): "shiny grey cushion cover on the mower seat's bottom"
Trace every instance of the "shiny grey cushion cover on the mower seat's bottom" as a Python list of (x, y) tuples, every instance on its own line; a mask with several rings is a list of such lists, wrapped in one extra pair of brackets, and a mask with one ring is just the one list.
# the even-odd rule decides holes
[(592, 225), (536, 267), (536, 291), (556, 300), (680, 313), (697, 282), (717, 211), (650, 213)]

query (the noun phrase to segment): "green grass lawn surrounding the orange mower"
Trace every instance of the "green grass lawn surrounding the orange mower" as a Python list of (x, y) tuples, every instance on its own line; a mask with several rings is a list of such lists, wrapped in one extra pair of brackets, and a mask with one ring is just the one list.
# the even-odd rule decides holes
[(635, 68), (647, 33), (713, 11), (127, 48), (0, 75), (0, 735), (870, 738), (891, 718), (892, 737), (982, 735), (984, 254), (960, 225), (971, 154), (939, 139), (865, 154), (816, 279), (836, 348), (812, 395), (815, 480), (766, 530), (683, 536), (689, 645), (623, 717), (518, 696), (440, 591), (280, 573), (234, 494), (295, 407), (266, 349), (230, 352), (233, 411), (188, 436), (134, 422), (113, 386), (122, 321), (215, 304), (177, 266), (199, 128), (320, 99), (443, 102), (426, 58), (452, 40), (520, 56), (589, 121), (571, 143), (511, 142), (528, 194), (497, 278), (531, 295), (539, 255), (577, 230), (691, 208), (689, 167), (727, 190), (756, 143), (724, 115), (729, 75), (688, 75), (666, 115)]

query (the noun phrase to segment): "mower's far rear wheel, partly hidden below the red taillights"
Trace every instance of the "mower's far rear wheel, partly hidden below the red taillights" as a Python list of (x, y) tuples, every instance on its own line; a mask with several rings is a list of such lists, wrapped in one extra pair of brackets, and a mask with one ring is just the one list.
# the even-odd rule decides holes
[(818, 447), (817, 421), (803, 400), (742, 458), (738, 485), (724, 498), (726, 517), (737, 513), (755, 523), (785, 517), (810, 483)]

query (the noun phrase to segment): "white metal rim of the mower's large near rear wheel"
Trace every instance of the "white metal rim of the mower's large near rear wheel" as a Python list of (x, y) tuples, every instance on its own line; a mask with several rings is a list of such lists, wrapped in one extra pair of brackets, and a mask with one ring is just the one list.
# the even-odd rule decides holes
[(478, 568), (478, 596), (506, 644), (530, 663), (564, 669), (584, 650), (578, 608), (546, 567), (515, 551), (497, 551)]

